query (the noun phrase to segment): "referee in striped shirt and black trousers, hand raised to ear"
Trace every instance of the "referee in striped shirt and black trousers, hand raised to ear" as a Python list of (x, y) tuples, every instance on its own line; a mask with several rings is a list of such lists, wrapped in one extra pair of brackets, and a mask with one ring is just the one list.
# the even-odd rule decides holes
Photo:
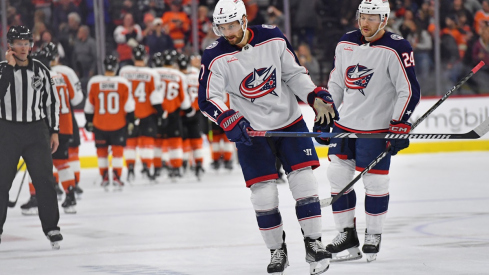
[(51, 154), (59, 144), (60, 103), (49, 70), (29, 56), (32, 42), (27, 27), (12, 26), (6, 61), (0, 62), (0, 237), (22, 157), (36, 189), (42, 230), (53, 248), (59, 248), (63, 237)]

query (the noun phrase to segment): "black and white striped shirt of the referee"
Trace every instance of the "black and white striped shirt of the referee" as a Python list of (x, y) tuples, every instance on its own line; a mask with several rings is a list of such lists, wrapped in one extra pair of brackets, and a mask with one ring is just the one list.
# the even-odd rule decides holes
[(0, 62), (0, 119), (33, 122), (46, 119), (51, 133), (59, 131), (59, 97), (48, 68), (29, 58), (29, 65)]

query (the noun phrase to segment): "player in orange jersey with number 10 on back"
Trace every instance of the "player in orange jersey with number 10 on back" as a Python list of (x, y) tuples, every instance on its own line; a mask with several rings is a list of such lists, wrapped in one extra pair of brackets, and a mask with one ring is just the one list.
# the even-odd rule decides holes
[(104, 59), (105, 76), (94, 76), (88, 82), (85, 103), (87, 130), (95, 135), (98, 166), (102, 187), (108, 188), (109, 146), (112, 149), (112, 183), (116, 190), (122, 189), (121, 181), (124, 146), (127, 134), (134, 130), (135, 102), (132, 85), (127, 79), (116, 76), (118, 60), (109, 55)]

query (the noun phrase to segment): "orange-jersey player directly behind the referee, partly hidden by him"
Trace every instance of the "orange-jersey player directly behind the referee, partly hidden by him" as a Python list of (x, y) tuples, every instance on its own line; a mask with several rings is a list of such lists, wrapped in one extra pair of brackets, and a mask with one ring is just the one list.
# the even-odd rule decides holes
[[(55, 57), (56, 47), (47, 45), (40, 51), (32, 54), (33, 58), (41, 61), (48, 69), (51, 67), (50, 62)], [(66, 193), (65, 201), (62, 207), (65, 213), (75, 214), (76, 199), (75, 199), (75, 175), (71, 170), (68, 161), (68, 141), (73, 134), (72, 115), (70, 100), (74, 99), (75, 94), (68, 90), (65, 78), (63, 75), (51, 71), (51, 79), (56, 87), (60, 99), (60, 114), (59, 114), (59, 147), (53, 153), (53, 164), (58, 170), (59, 180)], [(36, 190), (29, 179), (29, 191), (31, 198), (29, 201), (21, 205), (22, 213), (26, 215), (37, 214)]]

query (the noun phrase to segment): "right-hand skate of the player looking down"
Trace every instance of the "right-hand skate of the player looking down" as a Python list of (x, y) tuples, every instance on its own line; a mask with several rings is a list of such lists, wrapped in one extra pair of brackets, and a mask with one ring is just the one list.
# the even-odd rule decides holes
[(309, 237), (304, 239), (306, 246), (306, 262), (310, 265), (311, 275), (322, 274), (329, 268), (331, 253), (324, 248), (321, 238), (313, 240)]

